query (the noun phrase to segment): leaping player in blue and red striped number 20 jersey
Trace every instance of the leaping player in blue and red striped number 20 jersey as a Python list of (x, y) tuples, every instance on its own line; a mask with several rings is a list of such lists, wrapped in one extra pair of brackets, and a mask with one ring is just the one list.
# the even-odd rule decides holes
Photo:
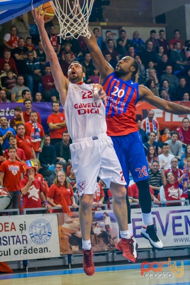
[[(154, 96), (145, 86), (132, 82), (131, 78), (138, 71), (137, 61), (130, 57), (123, 57), (114, 69), (104, 60), (94, 34), (85, 37), (85, 42), (91, 53), (93, 64), (100, 72), (100, 84), (107, 94), (106, 121), (107, 134), (121, 163), (124, 178), (129, 185), (129, 170), (139, 189), (139, 202), (142, 208), (143, 227), (141, 235), (149, 240), (155, 248), (162, 248), (163, 244), (156, 235), (156, 228), (151, 219), (151, 195), (148, 184), (148, 166), (143, 150), (143, 142), (135, 122), (135, 105), (139, 99), (169, 113), (189, 114), (190, 108), (164, 101)], [(130, 206), (128, 203), (128, 227), (131, 230)], [(136, 246), (134, 246), (134, 249)], [(134, 256), (136, 253), (134, 252)]]

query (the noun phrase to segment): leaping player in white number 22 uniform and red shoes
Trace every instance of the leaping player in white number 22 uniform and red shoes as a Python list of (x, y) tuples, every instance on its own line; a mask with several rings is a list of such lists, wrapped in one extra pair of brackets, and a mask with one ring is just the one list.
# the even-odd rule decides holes
[[(95, 272), (92, 261), (90, 232), (92, 224), (93, 194), (97, 176), (102, 178), (113, 194), (113, 210), (121, 233), (116, 246), (131, 262), (133, 255), (132, 237), (127, 226), (126, 189), (121, 165), (113, 149), (111, 139), (106, 134), (105, 92), (99, 84), (87, 85), (83, 82), (85, 73), (79, 62), (69, 66), (68, 78), (64, 77), (58, 58), (44, 28), (43, 14), (32, 11), (45, 53), (50, 61), (56, 89), (64, 106), (68, 132), (72, 138), (71, 159), (80, 195), (79, 219), (83, 243), (83, 268), (87, 275)], [(89, 164), (92, 162), (93, 164)], [(94, 167), (94, 165), (96, 167)]]

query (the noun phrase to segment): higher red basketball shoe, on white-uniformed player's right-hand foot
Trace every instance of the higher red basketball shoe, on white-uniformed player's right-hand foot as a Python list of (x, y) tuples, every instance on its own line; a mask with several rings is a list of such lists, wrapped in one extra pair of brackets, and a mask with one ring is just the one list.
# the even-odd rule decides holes
[(134, 251), (134, 246), (133, 246), (134, 240), (132, 238), (126, 239), (126, 238), (121, 238), (121, 240), (118, 241), (118, 243), (115, 244), (115, 247), (123, 251), (123, 256), (129, 261), (134, 263), (136, 261), (133, 251)]

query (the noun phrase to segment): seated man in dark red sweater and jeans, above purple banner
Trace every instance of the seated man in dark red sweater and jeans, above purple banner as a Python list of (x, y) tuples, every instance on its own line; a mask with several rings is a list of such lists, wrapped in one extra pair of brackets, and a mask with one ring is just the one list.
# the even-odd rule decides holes
[(45, 102), (50, 102), (51, 100), (56, 101), (59, 99), (59, 93), (56, 90), (50, 66), (45, 66), (45, 75), (42, 77), (42, 86)]

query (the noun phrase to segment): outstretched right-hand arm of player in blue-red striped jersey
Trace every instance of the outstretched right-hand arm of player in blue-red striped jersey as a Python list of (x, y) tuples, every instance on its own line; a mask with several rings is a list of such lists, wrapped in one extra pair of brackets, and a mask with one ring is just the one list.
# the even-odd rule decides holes
[(153, 93), (145, 86), (139, 85), (139, 97), (140, 99), (148, 102), (149, 104), (164, 110), (168, 113), (176, 115), (186, 115), (190, 114), (190, 108), (176, 104), (174, 102), (165, 101), (157, 96), (154, 96)]

